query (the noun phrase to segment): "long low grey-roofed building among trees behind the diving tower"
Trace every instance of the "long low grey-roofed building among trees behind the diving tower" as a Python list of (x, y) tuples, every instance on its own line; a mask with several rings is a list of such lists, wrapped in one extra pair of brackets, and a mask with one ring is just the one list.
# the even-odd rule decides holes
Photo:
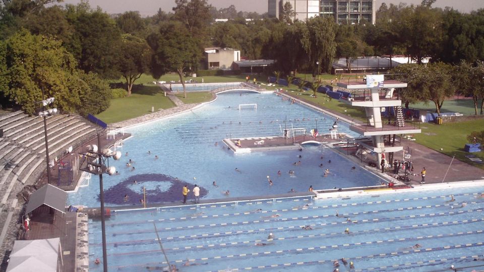
[[(393, 67), (400, 65), (401, 63), (390, 59), (373, 56), (373, 57), (358, 57), (351, 61), (351, 73), (377, 73), (386, 72)], [(349, 73), (349, 69), (346, 65), (346, 58), (338, 58), (333, 62), (332, 74)]]

